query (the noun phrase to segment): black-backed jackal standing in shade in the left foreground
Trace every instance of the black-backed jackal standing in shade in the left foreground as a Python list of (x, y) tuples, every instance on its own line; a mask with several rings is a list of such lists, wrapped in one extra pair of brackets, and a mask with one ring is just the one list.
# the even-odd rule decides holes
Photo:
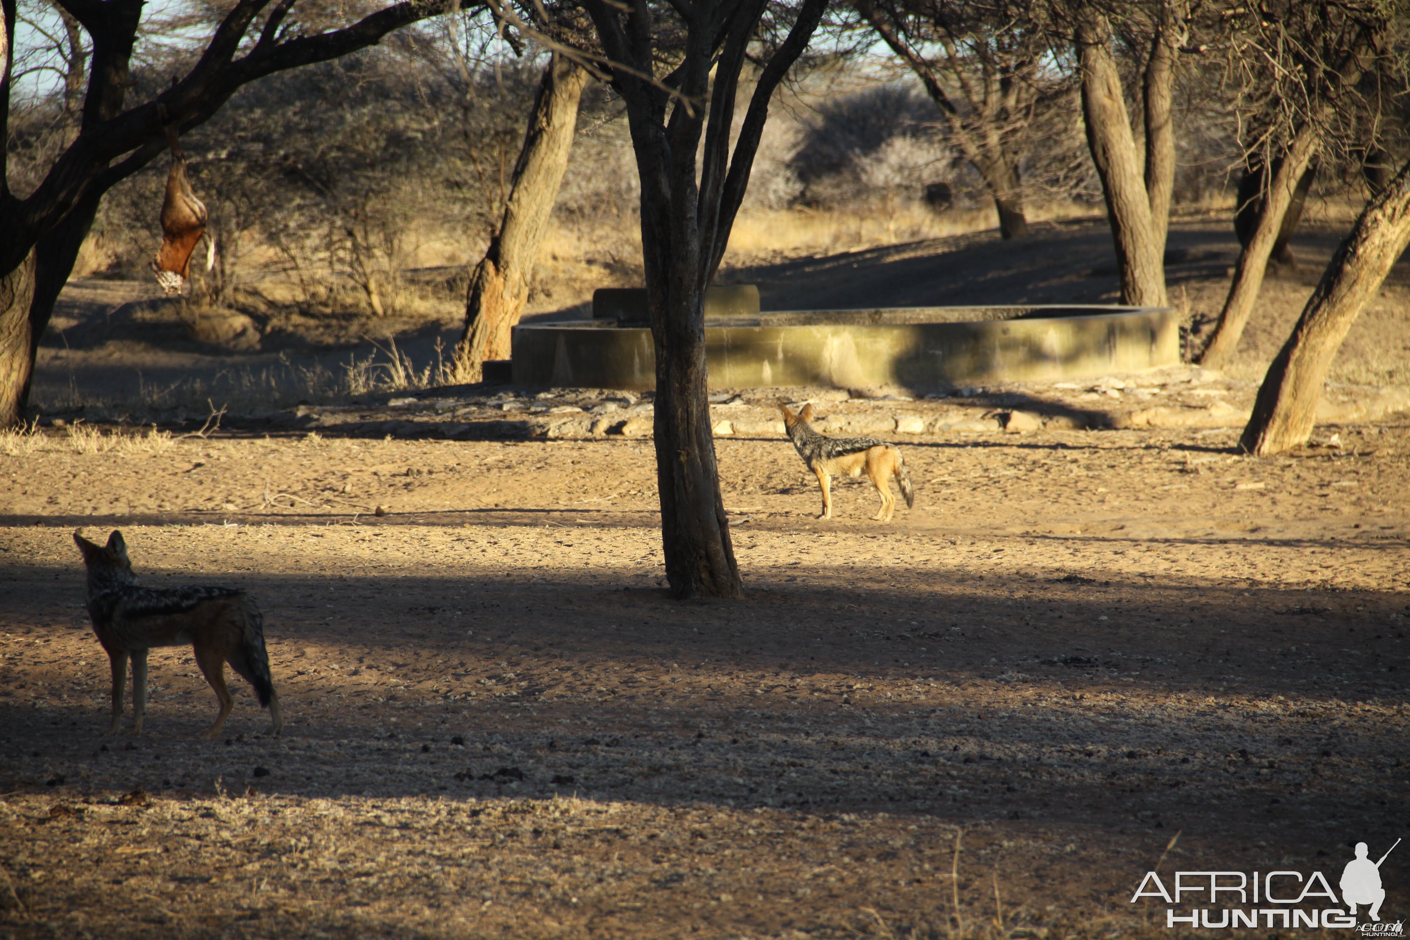
[(152, 647), (192, 644), (196, 665), (220, 699), (220, 715), (206, 731), (220, 734), (234, 699), (226, 688), (226, 664), (243, 675), (268, 706), (274, 731), (283, 729), (279, 695), (269, 676), (269, 654), (264, 645), (264, 617), (244, 592), (234, 588), (142, 588), (127, 558), (123, 533), (114, 531), (107, 545), (97, 545), (73, 533), (87, 567), (87, 609), (93, 633), (113, 667), (113, 727), (123, 722), (123, 685), (127, 660), (133, 660), (133, 734), (142, 733), (147, 713), (147, 651)]

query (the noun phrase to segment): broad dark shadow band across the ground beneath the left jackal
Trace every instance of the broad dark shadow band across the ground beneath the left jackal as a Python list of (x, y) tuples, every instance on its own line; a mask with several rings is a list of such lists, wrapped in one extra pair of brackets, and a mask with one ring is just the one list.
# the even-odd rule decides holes
[[(0, 784), (207, 792), (219, 778), (1231, 833), (1276, 805), (1389, 831), (1403, 726), (1376, 698), (1402, 696), (1403, 674), (1351, 665), (1341, 645), (1363, 623), (1351, 600), (1399, 595), (1310, 606), (1275, 586), (1090, 574), (898, 595), (885, 568), (811, 565), (742, 603), (681, 605), (620, 578), (216, 572), (200, 581), (265, 609), (286, 734), (265, 734), (240, 684), (226, 737), (197, 738), (214, 696), (172, 648), (154, 653), (148, 733), (127, 750), (102, 733), (107, 669), (73, 609), (76, 571), (17, 565), (8, 643), (45, 685), (0, 689)], [(1365, 717), (1327, 696), (1366, 702)]]

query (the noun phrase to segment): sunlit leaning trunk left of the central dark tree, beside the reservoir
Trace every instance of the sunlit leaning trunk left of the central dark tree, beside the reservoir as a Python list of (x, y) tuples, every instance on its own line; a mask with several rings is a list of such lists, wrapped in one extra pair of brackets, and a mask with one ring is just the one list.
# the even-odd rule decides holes
[(509, 358), (509, 340), (529, 300), (539, 244), (568, 166), (587, 79), (585, 69), (554, 54), (539, 82), (503, 220), (470, 280), (465, 334), (455, 344), (457, 382), (479, 382), (485, 359)]

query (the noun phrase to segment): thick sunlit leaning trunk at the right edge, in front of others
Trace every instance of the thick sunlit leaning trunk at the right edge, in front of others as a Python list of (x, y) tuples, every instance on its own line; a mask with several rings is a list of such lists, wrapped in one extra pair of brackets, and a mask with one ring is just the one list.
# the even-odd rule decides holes
[(1356, 218), (1282, 351), (1268, 368), (1239, 438), (1249, 454), (1282, 454), (1307, 443), (1331, 361), (1366, 300), (1410, 244), (1410, 163)]

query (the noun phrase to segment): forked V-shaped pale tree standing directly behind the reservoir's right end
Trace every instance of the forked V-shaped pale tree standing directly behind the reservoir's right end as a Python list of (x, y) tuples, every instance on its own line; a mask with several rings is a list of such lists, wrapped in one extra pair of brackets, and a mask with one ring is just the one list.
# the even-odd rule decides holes
[(1144, 45), (1139, 69), (1142, 155), (1131, 131), (1127, 93), (1112, 48), (1111, 16), (1115, 13), (1098, 3), (1079, 1), (1072, 8), (1081, 114), (1117, 248), (1121, 302), (1160, 307), (1166, 303), (1165, 238), (1175, 190), (1175, 66), (1186, 42), (1187, 24), (1180, 0), (1152, 0), (1120, 8), (1128, 45)]

